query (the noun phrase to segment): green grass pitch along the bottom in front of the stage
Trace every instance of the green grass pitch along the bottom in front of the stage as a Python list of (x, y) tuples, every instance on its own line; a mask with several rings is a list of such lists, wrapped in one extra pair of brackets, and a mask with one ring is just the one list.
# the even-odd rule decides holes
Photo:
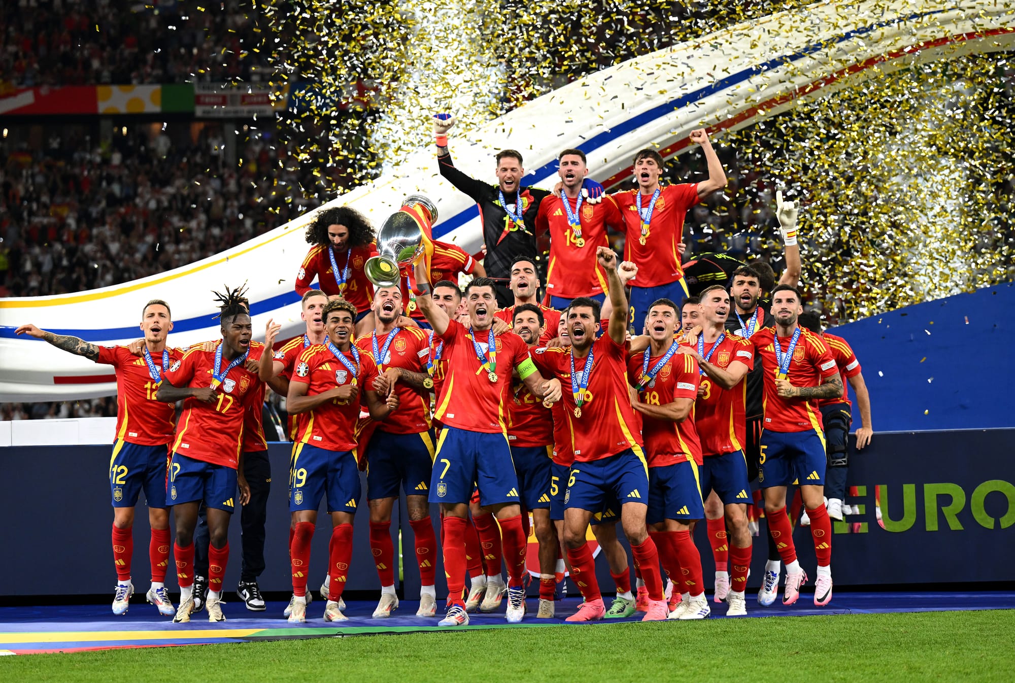
[(0, 681), (1012, 681), (1015, 610), (547, 626), (0, 658)]

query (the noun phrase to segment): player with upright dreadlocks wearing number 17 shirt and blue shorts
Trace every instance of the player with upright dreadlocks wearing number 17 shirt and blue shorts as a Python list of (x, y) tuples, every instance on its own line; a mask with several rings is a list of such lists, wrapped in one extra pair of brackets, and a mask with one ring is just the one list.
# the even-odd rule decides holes
[(207, 510), (209, 621), (224, 621), (219, 605), (222, 577), (229, 559), (229, 516), (239, 500), (247, 504), (250, 486), (243, 475), (244, 416), (256, 401), (261, 380), (247, 369), (251, 317), (244, 288), (213, 292), (220, 303), (222, 343), (214, 351), (189, 350), (162, 377), (158, 400), (184, 402), (177, 423), (166, 481), (166, 503), (173, 505), (177, 540), (173, 551), (180, 584), (175, 622), (190, 621), (194, 609), (194, 528), (204, 502)]

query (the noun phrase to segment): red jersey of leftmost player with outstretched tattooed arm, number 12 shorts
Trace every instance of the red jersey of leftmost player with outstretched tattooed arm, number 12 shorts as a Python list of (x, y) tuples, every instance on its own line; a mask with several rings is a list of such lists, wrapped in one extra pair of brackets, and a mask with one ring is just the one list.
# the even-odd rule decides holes
[[(170, 365), (184, 356), (183, 349), (166, 347)], [(159, 372), (162, 354), (151, 357)], [(113, 365), (117, 373), (117, 439), (138, 446), (161, 446), (173, 440), (176, 406), (155, 400), (157, 384), (148, 372), (143, 356), (126, 346), (99, 346), (97, 363)]]

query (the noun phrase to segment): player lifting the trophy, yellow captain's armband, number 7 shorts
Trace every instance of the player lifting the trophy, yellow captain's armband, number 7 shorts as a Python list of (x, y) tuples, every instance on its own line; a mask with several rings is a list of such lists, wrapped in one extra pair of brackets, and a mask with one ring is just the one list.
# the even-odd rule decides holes
[(427, 273), (416, 267), (422, 293), (419, 309), (444, 342), (448, 375), (436, 400), (434, 417), (444, 424), (430, 479), (430, 502), (444, 513), (445, 573), (448, 577), (448, 614), (444, 626), (469, 623), (462, 599), (466, 569), (465, 529), (468, 503), (479, 484), (480, 503), (496, 515), (507, 564), (507, 613), (511, 623), (525, 615), (525, 555), (527, 539), (519, 505), (518, 478), (511, 459), (504, 424), (504, 402), (517, 370), (529, 391), (540, 400), (555, 400), (559, 383), (544, 382), (522, 339), (511, 332), (496, 335), (494, 283), (477, 278), (465, 290), (470, 325), (450, 320), (434, 304)]

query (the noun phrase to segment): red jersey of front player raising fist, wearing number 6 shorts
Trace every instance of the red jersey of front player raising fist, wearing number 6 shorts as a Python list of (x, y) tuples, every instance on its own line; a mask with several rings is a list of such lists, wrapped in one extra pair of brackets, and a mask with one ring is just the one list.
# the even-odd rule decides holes
[[(582, 416), (571, 391), (570, 349), (536, 349), (532, 359), (545, 378), (557, 378), (563, 388), (564, 419), (574, 460), (591, 462), (632, 449), (642, 460), (634, 409), (627, 395), (627, 352), (604, 334), (593, 342), (592, 372), (585, 390)], [(574, 359), (574, 371), (585, 369), (589, 356)]]

